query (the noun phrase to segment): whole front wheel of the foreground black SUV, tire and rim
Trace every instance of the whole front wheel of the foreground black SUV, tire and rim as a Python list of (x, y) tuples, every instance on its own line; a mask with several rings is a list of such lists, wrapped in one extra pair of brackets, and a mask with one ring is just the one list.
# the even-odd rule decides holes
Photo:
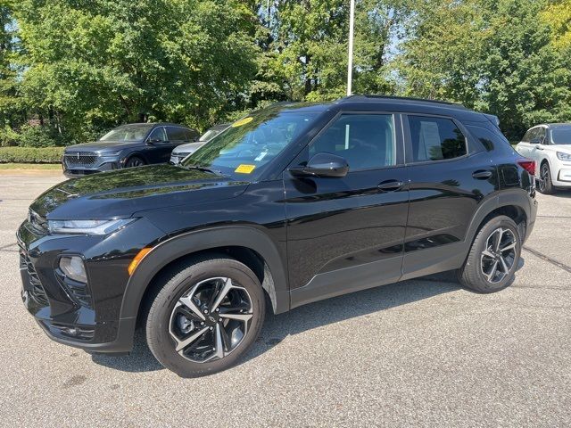
[(257, 276), (225, 256), (171, 272), (149, 309), (146, 337), (161, 364), (182, 377), (227, 369), (260, 333), (265, 300)]

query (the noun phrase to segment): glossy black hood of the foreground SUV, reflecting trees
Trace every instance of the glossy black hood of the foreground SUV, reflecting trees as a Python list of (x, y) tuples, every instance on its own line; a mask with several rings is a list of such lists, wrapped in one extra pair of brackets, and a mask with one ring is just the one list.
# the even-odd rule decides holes
[(173, 165), (148, 165), (72, 178), (30, 205), (48, 219), (130, 217), (137, 211), (174, 207), (244, 193), (248, 183)]

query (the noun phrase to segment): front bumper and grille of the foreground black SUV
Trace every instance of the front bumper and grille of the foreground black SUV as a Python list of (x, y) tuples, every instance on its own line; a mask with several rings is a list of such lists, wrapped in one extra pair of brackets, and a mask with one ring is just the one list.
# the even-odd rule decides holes
[[(128, 263), (149, 243), (142, 241), (160, 235), (145, 218), (108, 236), (47, 235), (24, 222), (17, 233), (24, 306), (55, 342), (97, 352), (128, 352), (137, 321), (120, 317)], [(84, 259), (88, 284), (62, 275), (62, 255)]]

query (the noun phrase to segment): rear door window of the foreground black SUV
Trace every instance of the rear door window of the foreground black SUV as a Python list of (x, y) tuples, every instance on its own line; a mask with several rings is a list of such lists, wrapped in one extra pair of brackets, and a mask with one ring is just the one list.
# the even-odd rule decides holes
[(466, 138), (451, 119), (409, 116), (412, 160), (442, 161), (464, 156)]

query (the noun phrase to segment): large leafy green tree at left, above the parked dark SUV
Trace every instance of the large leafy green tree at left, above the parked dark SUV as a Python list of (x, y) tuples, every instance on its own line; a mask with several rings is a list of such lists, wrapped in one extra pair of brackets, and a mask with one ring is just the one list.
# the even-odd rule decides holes
[(78, 140), (123, 121), (203, 128), (256, 71), (237, 1), (22, 0), (16, 17), (25, 103)]

